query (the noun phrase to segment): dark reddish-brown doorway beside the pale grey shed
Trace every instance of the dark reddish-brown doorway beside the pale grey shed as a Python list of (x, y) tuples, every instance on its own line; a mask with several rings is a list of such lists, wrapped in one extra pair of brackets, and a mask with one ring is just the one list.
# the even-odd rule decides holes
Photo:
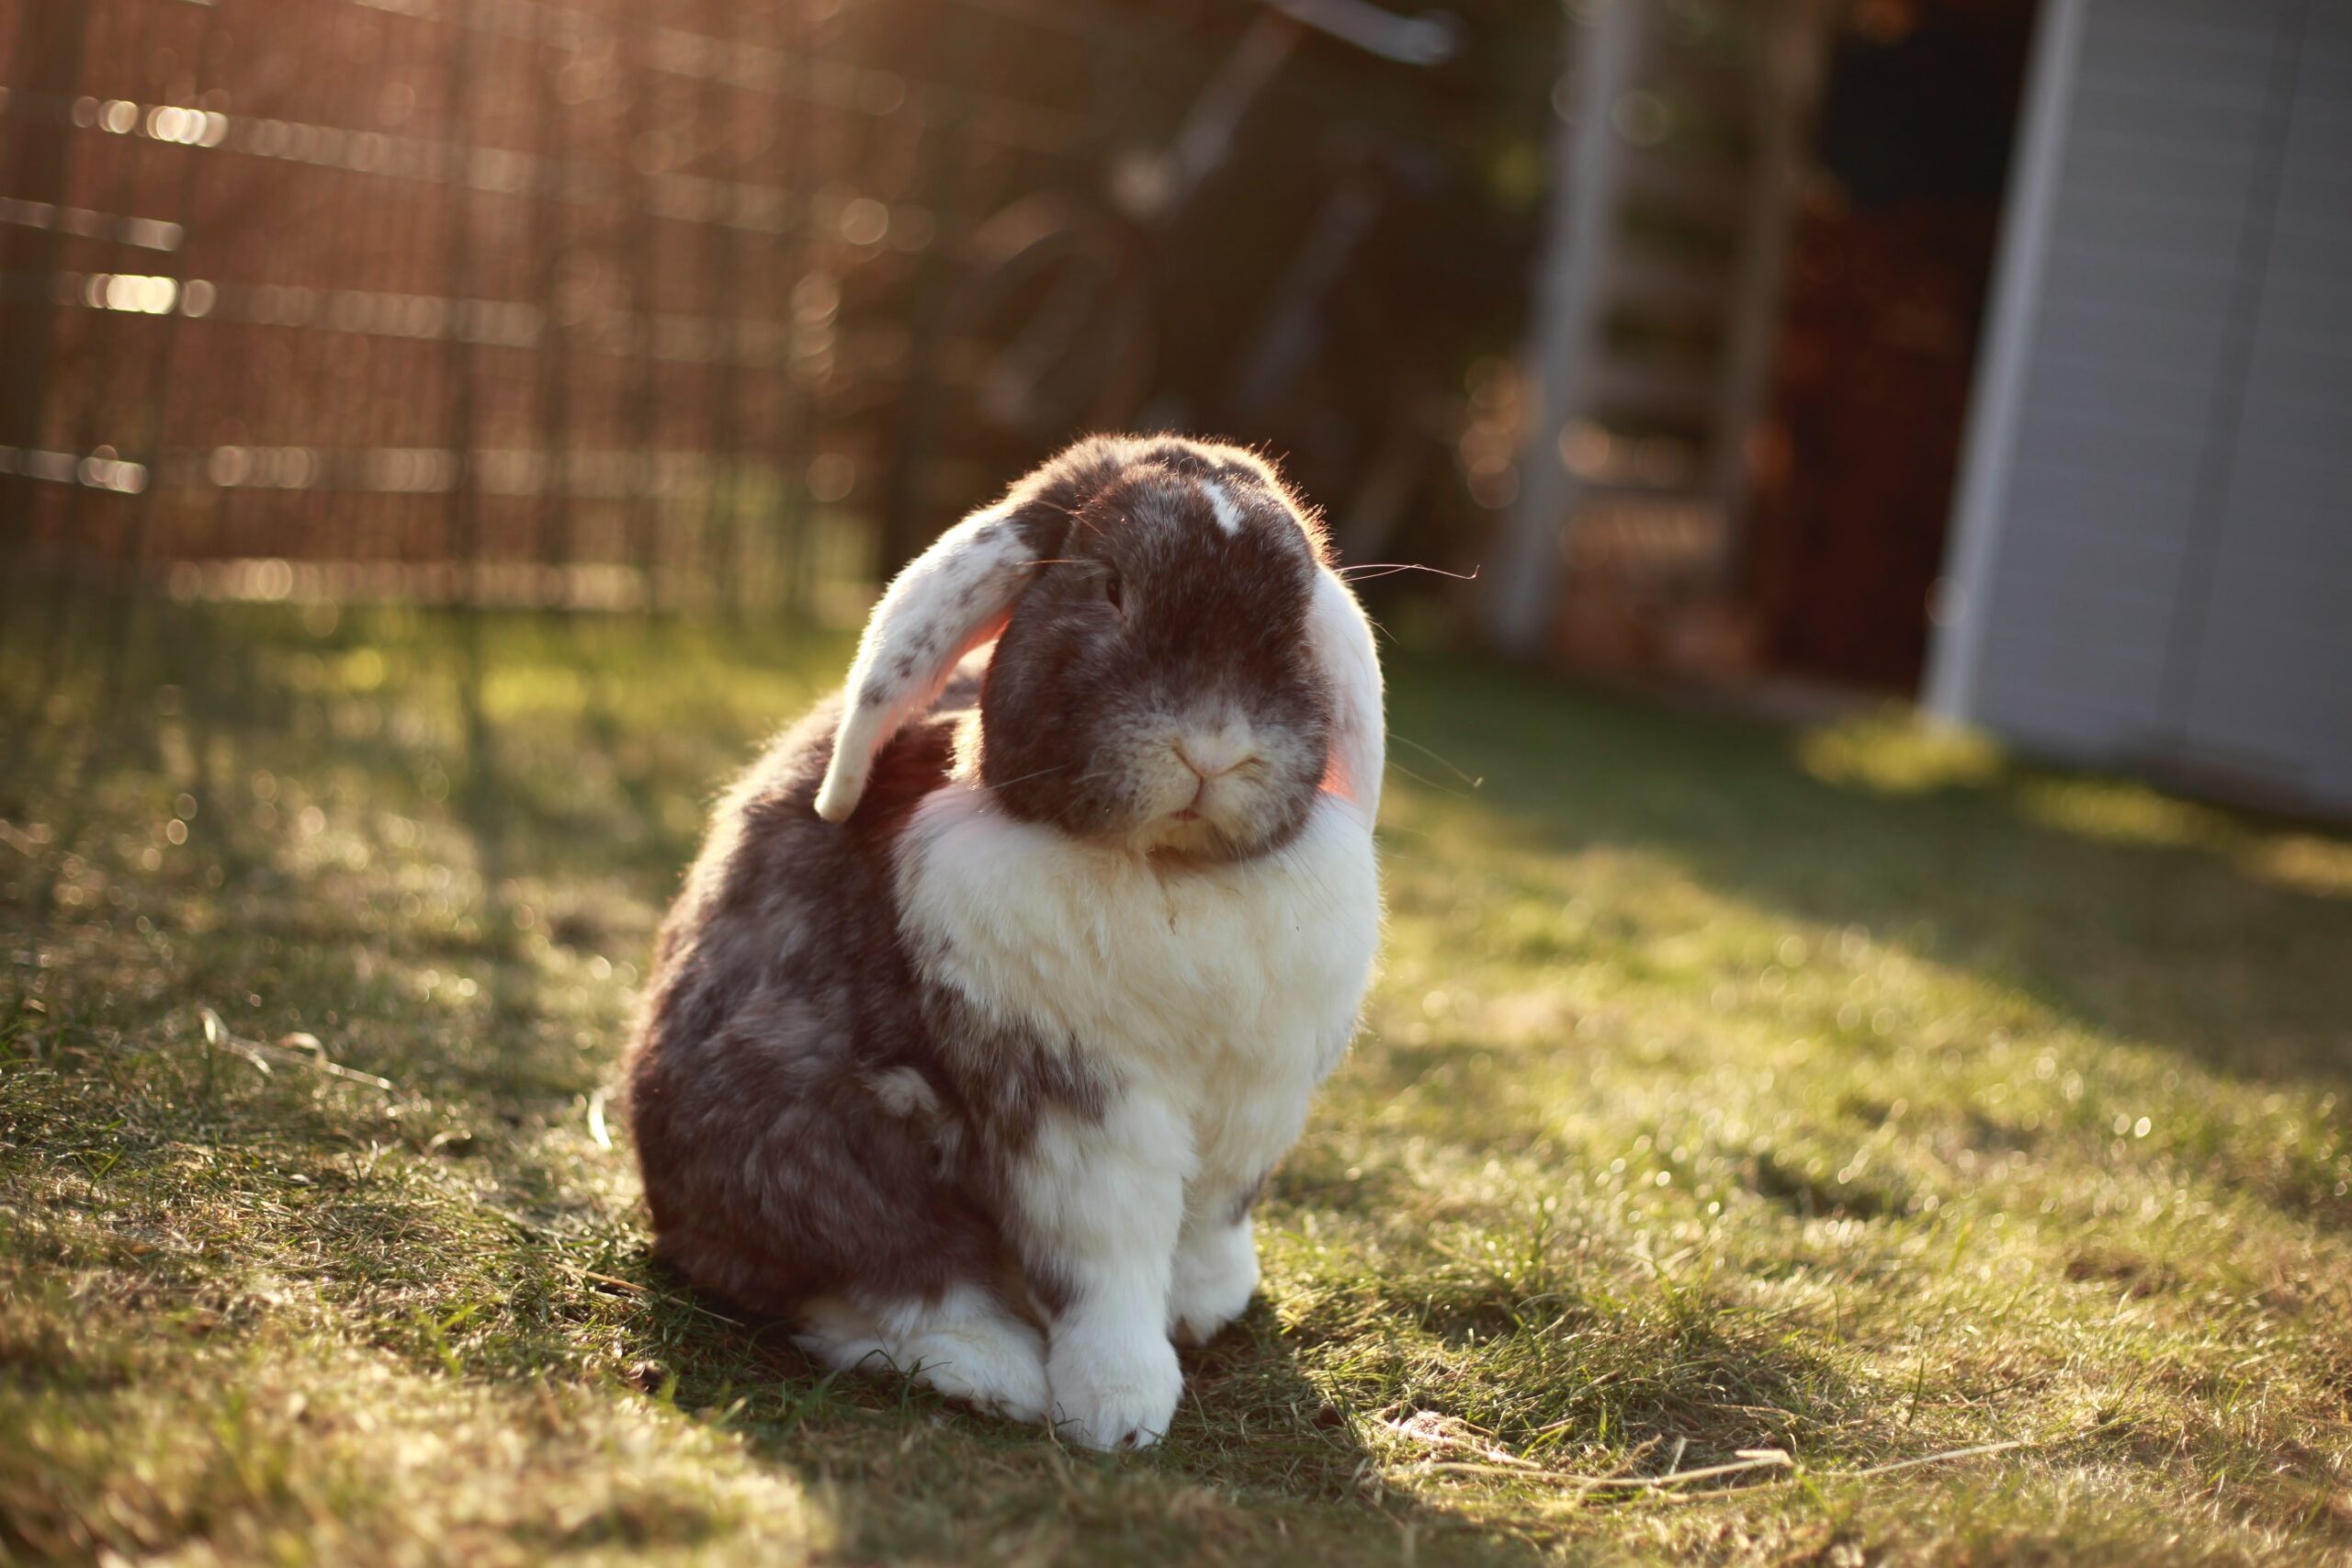
[(1797, 216), (1745, 590), (1764, 661), (1910, 693), (1966, 433), (2032, 0), (1863, 0)]

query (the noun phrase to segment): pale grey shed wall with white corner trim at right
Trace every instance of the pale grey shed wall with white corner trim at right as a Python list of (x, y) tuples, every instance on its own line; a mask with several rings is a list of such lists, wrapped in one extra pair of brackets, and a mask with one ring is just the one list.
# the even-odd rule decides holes
[(2352, 806), (2352, 0), (2053, 7), (1938, 701)]

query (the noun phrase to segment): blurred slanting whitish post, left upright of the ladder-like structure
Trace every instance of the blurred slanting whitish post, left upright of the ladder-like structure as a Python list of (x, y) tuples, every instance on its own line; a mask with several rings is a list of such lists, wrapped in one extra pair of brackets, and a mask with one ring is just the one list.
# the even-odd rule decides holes
[(1534, 656), (1552, 628), (1566, 534), (1578, 501), (1559, 449), (1599, 364), (1602, 273), (1616, 230), (1625, 139), (1616, 108), (1632, 85), (1651, 0), (1592, 0), (1571, 21), (1576, 59), (1569, 115), (1552, 136), (1550, 233), (1529, 355), (1526, 444), (1519, 498), (1484, 571), (1486, 635), (1505, 654)]

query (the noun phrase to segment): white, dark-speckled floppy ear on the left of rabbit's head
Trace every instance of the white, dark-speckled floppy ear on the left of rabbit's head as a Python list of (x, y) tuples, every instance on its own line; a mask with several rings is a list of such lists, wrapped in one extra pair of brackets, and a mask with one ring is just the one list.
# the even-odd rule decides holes
[(901, 571), (858, 637), (849, 705), (833, 736), (833, 762), (816, 790), (816, 816), (847, 820), (866, 795), (875, 752), (927, 710), (964, 654), (995, 639), (1028, 588), (1037, 550), (1011, 505), (974, 512)]

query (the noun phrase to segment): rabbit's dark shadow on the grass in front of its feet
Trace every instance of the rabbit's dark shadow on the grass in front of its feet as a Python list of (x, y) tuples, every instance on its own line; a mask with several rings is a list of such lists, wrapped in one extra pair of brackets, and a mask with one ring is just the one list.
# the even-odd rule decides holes
[[(642, 1368), (647, 1392), (821, 1493), (858, 1559), (1044, 1547), (1047, 1561), (1190, 1561), (1216, 1547), (1242, 1561), (1430, 1561), (1449, 1535), (1475, 1533), (1383, 1486), (1362, 1413), (1308, 1375), (1263, 1298), (1181, 1352), (1185, 1394), (1160, 1446), (1089, 1453), (957, 1406), (906, 1368), (828, 1373), (786, 1324), (682, 1324), (680, 1295), (649, 1302), (637, 1335), (668, 1352)], [(1479, 1561), (1512, 1561), (1496, 1559), (1503, 1547), (1477, 1535)]]

